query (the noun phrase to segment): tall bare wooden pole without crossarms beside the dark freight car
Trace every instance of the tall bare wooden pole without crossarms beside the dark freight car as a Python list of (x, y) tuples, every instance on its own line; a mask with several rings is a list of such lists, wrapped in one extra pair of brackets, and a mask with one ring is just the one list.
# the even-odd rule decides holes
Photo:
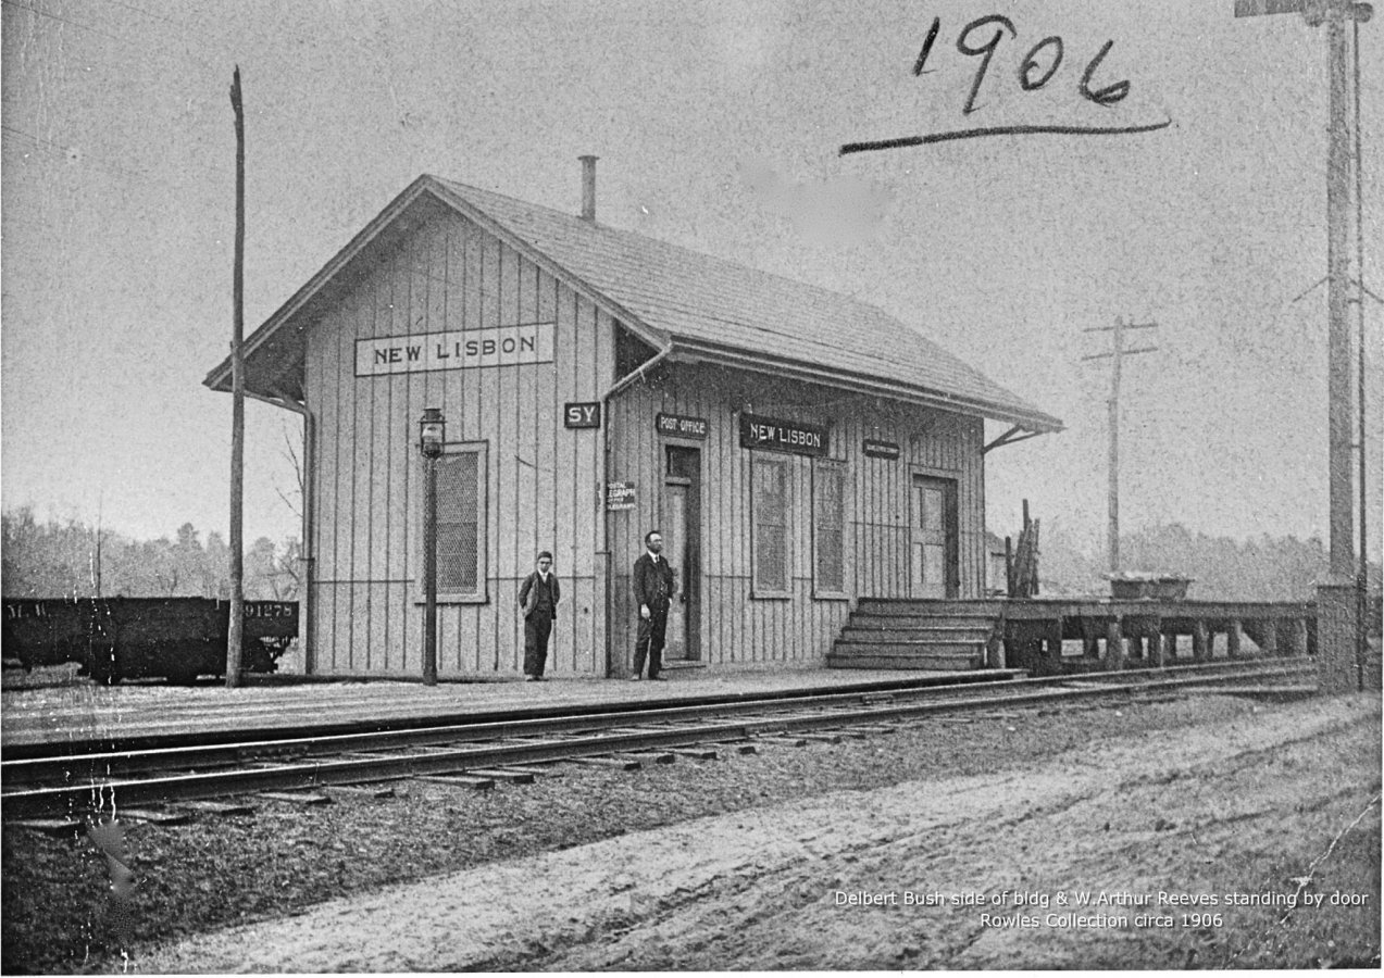
[(241, 628), (245, 620), (245, 112), (241, 66), (231, 76), (235, 111), (235, 271), (231, 332), (231, 621), (226, 638), (226, 685), (241, 685)]

